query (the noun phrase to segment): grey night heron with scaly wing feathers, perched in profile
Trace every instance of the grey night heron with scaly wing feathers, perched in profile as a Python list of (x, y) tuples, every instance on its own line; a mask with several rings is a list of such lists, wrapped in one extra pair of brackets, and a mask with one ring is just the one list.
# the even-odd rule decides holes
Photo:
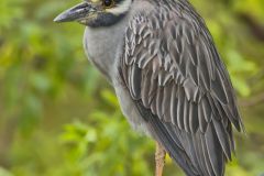
[(86, 25), (91, 63), (123, 114), (188, 176), (222, 176), (243, 129), (234, 90), (208, 29), (187, 0), (86, 0), (54, 21)]

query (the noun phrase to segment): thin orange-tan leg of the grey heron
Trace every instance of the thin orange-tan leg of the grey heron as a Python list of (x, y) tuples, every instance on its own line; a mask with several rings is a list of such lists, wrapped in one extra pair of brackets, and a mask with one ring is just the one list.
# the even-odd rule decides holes
[(156, 152), (155, 152), (155, 162), (156, 162), (156, 170), (155, 176), (163, 175), (163, 167), (165, 165), (165, 156), (166, 152), (164, 151), (163, 146), (156, 142)]

